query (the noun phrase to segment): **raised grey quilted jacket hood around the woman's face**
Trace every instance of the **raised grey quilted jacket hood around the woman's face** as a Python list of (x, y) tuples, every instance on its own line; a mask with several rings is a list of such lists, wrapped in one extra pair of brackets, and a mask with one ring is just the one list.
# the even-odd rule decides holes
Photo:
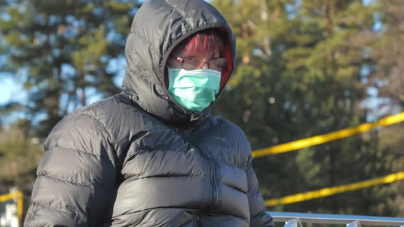
[[(225, 57), (229, 64), (222, 72), (220, 92), (227, 83), (236, 56), (236, 38), (225, 18), (203, 0), (149, 0), (136, 12), (125, 46), (127, 69), (124, 92), (144, 111), (171, 124), (197, 124), (210, 114), (179, 105), (164, 83), (166, 61), (182, 40), (205, 29), (225, 34)], [(216, 100), (217, 100), (216, 98)]]

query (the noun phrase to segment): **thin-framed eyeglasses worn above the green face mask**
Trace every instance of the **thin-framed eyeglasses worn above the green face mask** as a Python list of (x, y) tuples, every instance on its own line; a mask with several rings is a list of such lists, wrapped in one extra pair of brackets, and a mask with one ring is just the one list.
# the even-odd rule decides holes
[(184, 68), (185, 70), (195, 70), (201, 68), (203, 64), (207, 64), (207, 68), (220, 72), (227, 65), (227, 59), (225, 58), (212, 58), (207, 62), (203, 62), (199, 57), (174, 58), (177, 59), (178, 62), (181, 62), (181, 68)]

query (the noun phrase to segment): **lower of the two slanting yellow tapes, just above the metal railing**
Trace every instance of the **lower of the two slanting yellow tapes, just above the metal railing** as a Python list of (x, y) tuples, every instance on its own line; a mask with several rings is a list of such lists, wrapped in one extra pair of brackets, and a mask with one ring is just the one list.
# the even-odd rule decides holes
[(404, 172), (397, 172), (380, 178), (375, 178), (368, 181), (361, 181), (352, 183), (349, 185), (340, 185), (335, 187), (326, 187), (317, 191), (307, 191), (304, 193), (298, 193), (292, 196), (285, 196), (283, 198), (277, 198), (272, 200), (266, 200), (265, 206), (277, 206), (280, 204), (290, 204), (295, 202), (303, 202), (305, 200), (313, 200), (315, 198), (322, 198), (326, 196), (332, 196), (337, 193), (343, 193), (346, 191), (355, 191), (357, 189), (363, 189), (366, 187), (373, 187), (376, 185), (383, 185), (393, 183), (394, 181), (404, 180)]

